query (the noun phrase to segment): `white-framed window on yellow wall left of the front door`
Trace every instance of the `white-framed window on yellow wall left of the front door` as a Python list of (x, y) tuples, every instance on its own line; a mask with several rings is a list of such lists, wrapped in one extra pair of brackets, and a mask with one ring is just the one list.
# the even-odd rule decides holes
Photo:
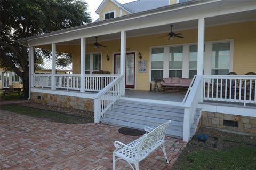
[(85, 74), (101, 70), (101, 53), (90, 53), (85, 55)]

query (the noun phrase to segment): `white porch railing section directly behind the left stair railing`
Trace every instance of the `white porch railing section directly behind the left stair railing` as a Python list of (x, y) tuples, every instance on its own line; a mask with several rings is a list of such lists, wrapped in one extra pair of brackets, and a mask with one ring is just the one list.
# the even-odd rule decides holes
[(84, 75), (84, 90), (99, 92), (119, 75)]

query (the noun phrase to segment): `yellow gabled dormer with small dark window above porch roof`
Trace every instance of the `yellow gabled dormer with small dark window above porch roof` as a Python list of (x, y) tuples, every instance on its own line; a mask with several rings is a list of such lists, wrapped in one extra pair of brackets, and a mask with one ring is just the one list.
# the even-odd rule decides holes
[(96, 10), (96, 13), (99, 14), (99, 21), (131, 14), (129, 10), (125, 9), (122, 4), (116, 0), (103, 0)]

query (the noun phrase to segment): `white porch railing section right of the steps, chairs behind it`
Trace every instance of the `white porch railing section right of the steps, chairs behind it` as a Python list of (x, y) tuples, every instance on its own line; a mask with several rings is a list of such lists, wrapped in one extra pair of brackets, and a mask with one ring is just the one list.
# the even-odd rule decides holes
[(207, 101), (256, 103), (256, 76), (204, 75), (204, 95)]

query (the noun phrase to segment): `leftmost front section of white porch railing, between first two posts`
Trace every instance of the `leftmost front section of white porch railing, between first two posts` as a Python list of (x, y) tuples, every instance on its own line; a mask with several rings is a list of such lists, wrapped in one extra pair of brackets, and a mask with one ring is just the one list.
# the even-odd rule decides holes
[(34, 74), (32, 75), (33, 79), (33, 86), (34, 87), (47, 87), (47, 88), (51, 88), (52, 84), (51, 84), (51, 78), (52, 75), (49, 74)]

